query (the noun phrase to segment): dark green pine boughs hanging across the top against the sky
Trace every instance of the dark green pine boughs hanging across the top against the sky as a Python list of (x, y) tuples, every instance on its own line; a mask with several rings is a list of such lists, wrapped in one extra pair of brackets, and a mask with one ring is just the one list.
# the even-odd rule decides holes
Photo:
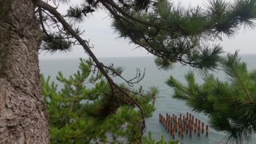
[[(69, 4), (67, 0), (58, 2)], [(173, 62), (201, 70), (216, 69), (223, 49), (208, 42), (234, 37), (241, 26), (254, 28), (256, 18), (256, 0), (213, 0), (203, 7), (184, 7), (168, 0), (84, 0), (71, 5), (63, 17), (69, 25), (76, 25), (100, 9), (110, 14), (112, 27), (120, 38), (143, 47), (158, 57), (156, 62), (164, 62), (156, 63), (160, 69), (168, 68)], [(44, 13), (41, 19), (47, 26), (57, 22)], [(60, 35), (53, 37), (47, 30), (43, 31), (43, 50), (69, 51), (72, 44), (77, 44), (69, 33), (61, 32), (63, 40), (59, 40)]]

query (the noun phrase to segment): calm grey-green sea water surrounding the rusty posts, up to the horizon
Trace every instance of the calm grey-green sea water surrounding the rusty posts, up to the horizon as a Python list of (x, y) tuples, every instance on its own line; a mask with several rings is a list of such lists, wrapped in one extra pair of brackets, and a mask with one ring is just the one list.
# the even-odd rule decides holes
[[(247, 62), (248, 69), (256, 69), (256, 55), (241, 55), (242, 61)], [(172, 139), (172, 137), (167, 133), (167, 131), (159, 124), (159, 113), (166, 115), (166, 113), (175, 115), (185, 115), (186, 112), (193, 113), (196, 118), (201, 119), (202, 122), (207, 124), (208, 119), (207, 116), (202, 113), (195, 113), (191, 111), (191, 109), (184, 105), (183, 101), (172, 99), (171, 94), (173, 93), (173, 89), (168, 87), (165, 84), (165, 81), (170, 77), (170, 75), (174, 76), (181, 82), (185, 82), (184, 74), (187, 73), (188, 70), (195, 70), (188, 66), (182, 66), (177, 63), (172, 70), (164, 71), (156, 68), (154, 64), (153, 57), (122, 57), (122, 58), (100, 58), (100, 61), (104, 64), (113, 63), (116, 66), (124, 66), (126, 69), (123, 73), (127, 79), (132, 78), (136, 75), (136, 68), (140, 68), (143, 70), (146, 68), (146, 74), (144, 79), (138, 83), (136, 86), (143, 86), (143, 88), (148, 88), (151, 86), (157, 86), (160, 90), (160, 94), (158, 99), (156, 99), (156, 110), (152, 117), (146, 120), (147, 122), (147, 132), (152, 131), (152, 135), (155, 139), (159, 139), (161, 135), (164, 135), (166, 140)], [(54, 59), (54, 60), (40, 60), (40, 71), (44, 75), (51, 75), (54, 80), (57, 72), (62, 71), (62, 73), (66, 76), (69, 76), (78, 69), (79, 59)], [(195, 72), (196, 73), (196, 72)], [(224, 75), (222, 73), (214, 73), (220, 79), (224, 80)], [(122, 82), (121, 80), (117, 80), (118, 82)], [(200, 76), (197, 77), (197, 82), (202, 82)], [(202, 144), (215, 144), (220, 143), (220, 141), (225, 136), (224, 132), (217, 132), (213, 129), (209, 129), (209, 136), (206, 137), (201, 135), (200, 137), (193, 136), (189, 139), (188, 135), (184, 135), (183, 143), (202, 143)], [(255, 136), (254, 136), (255, 137)], [(179, 138), (176, 135), (176, 138)], [(253, 139), (252, 143), (256, 143), (256, 139)]]

